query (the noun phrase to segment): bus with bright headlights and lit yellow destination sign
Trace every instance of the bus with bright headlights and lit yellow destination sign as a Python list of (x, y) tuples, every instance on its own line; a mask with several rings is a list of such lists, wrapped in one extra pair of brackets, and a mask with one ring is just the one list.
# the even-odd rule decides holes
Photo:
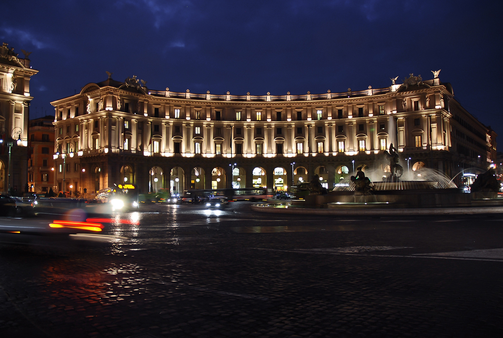
[(135, 184), (114, 184), (96, 191), (99, 203), (110, 203), (114, 211), (138, 209), (138, 187)]

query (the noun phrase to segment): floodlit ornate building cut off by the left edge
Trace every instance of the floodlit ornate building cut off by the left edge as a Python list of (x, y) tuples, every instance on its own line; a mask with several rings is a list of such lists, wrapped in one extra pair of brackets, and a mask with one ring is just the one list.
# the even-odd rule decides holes
[(0, 191), (21, 194), (28, 171), (28, 116), (30, 78), (38, 73), (30, 66), (29, 52), (21, 58), (4, 42), (0, 46)]

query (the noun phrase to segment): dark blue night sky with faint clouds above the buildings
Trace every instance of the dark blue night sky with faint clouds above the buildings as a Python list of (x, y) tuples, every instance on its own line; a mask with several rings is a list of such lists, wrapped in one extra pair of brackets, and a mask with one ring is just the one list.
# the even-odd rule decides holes
[[(32, 51), (31, 118), (90, 82), (136, 75), (193, 93), (301, 95), (450, 82), (503, 135), (500, 1), (9, 1), (0, 37)], [(500, 139), (500, 138), (498, 138)]]

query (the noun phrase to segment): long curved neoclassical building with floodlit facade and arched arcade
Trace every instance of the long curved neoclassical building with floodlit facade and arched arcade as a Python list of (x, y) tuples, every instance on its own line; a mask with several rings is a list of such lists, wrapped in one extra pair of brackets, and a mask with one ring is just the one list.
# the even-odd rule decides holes
[(51, 103), (58, 190), (86, 188), (90, 196), (121, 182), (142, 192), (281, 190), (313, 174), (332, 188), (361, 165), (386, 173), (391, 143), (405, 170), (454, 177), (495, 160), (494, 132), (454, 99), (439, 72), (386, 88), (283, 96), (156, 91), (108, 74)]

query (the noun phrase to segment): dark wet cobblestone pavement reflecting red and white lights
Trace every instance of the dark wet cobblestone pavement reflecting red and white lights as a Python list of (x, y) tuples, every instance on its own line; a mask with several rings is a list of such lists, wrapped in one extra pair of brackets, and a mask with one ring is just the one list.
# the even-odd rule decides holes
[(0, 334), (503, 336), (503, 219), (126, 217), (115, 244), (0, 245)]

